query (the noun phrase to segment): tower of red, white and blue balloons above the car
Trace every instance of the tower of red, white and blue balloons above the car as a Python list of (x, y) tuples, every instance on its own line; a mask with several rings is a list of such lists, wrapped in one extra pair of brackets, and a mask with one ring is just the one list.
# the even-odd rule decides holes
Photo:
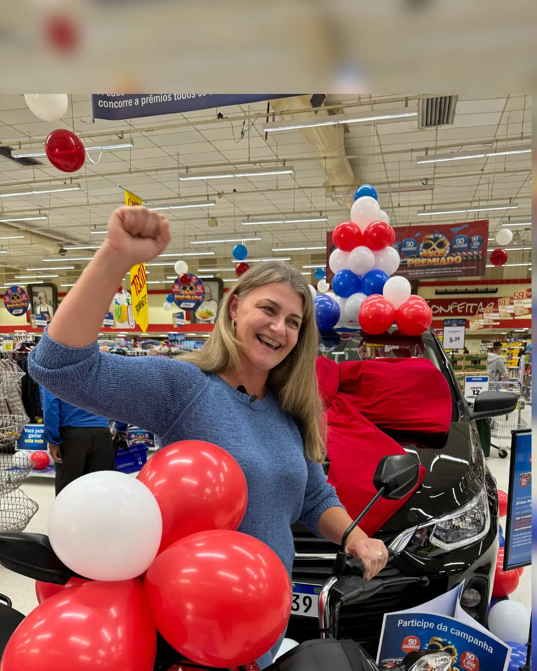
[[(335, 297), (314, 300), (320, 331), (333, 329), (342, 317), (371, 335), (384, 333), (394, 321), (403, 335), (421, 335), (430, 327), (428, 303), (411, 296), (407, 278), (391, 277), (399, 268), (399, 252), (393, 248), (395, 231), (374, 187), (364, 184), (356, 189), (350, 221), (336, 226), (332, 241), (336, 249), (328, 265), (334, 272)], [(317, 288), (326, 294), (330, 287), (321, 279)]]

